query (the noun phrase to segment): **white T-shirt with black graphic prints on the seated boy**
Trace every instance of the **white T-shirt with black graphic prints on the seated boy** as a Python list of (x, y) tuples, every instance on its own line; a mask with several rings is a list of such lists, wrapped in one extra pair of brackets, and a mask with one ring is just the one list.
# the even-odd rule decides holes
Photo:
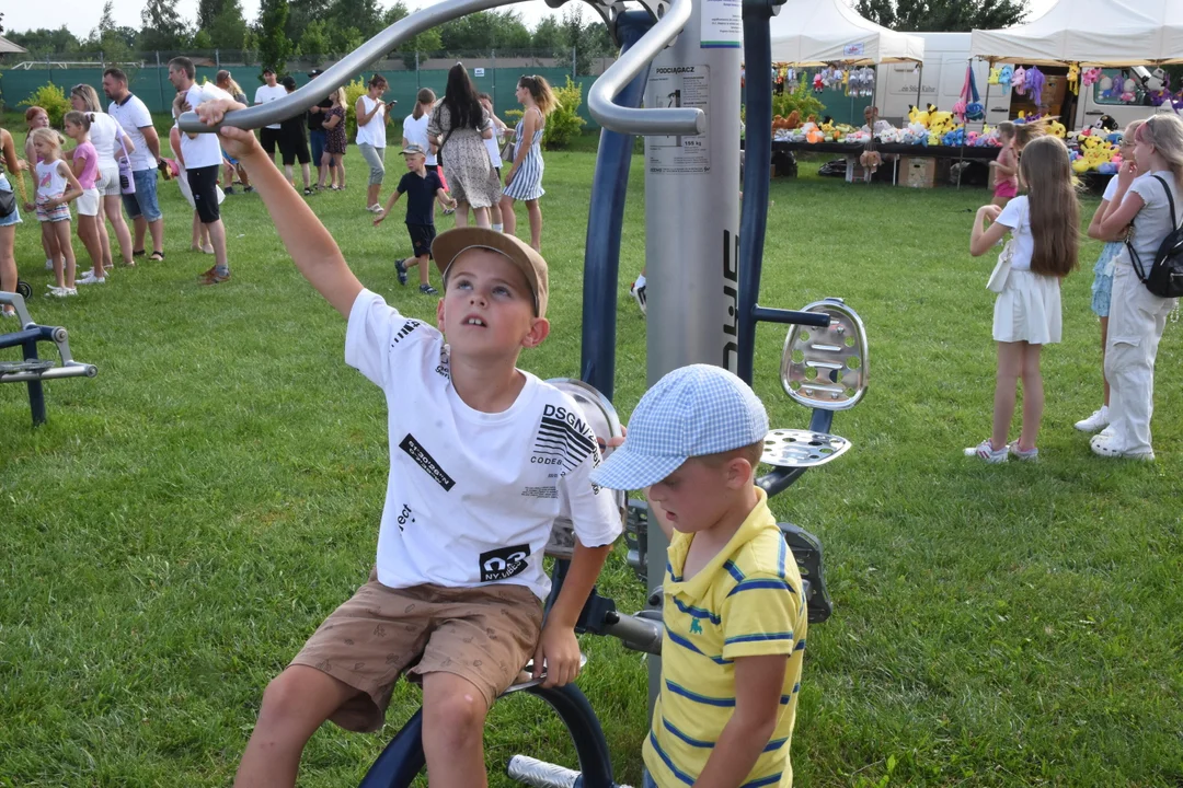
[(506, 582), (545, 599), (543, 549), (558, 516), (580, 542), (620, 535), (612, 490), (592, 484), (600, 449), (575, 402), (523, 372), (500, 413), (468, 408), (450, 377), (444, 336), (362, 291), (349, 314), (345, 363), (384, 392), (390, 475), (377, 579), (393, 588)]

